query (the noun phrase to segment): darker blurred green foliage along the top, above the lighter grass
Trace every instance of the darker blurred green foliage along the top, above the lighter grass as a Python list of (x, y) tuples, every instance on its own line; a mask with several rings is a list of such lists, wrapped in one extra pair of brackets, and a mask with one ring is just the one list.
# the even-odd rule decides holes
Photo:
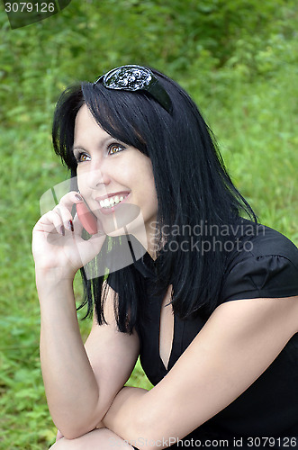
[[(26, 121), (28, 104), (49, 112), (64, 85), (128, 62), (199, 80), (204, 92), (205, 78), (222, 67), (248, 81), (270, 77), (297, 61), (296, 23), (294, 0), (73, 0), (61, 14), (14, 31), (3, 14), (0, 104), (9, 95), (14, 107), (5, 117)], [(44, 123), (33, 112), (30, 120)]]

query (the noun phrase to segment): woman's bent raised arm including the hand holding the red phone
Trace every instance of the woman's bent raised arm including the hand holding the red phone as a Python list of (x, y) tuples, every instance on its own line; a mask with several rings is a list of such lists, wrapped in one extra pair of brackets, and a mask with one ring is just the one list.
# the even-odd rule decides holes
[(94, 322), (86, 348), (83, 345), (73, 278), (82, 263), (100, 251), (105, 236), (84, 241), (76, 218), (73, 227), (67, 228), (72, 205), (78, 202), (76, 194), (68, 193), (59, 207), (41, 217), (32, 241), (41, 303), (42, 375), (50, 414), (69, 438), (96, 427), (130, 376), (139, 353), (137, 335), (117, 331), (112, 289), (106, 302), (108, 325)]

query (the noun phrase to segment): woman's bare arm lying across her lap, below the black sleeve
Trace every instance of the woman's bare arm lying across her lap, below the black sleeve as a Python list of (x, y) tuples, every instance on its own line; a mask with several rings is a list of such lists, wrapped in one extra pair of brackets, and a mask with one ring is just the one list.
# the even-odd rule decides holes
[(138, 448), (164, 448), (239, 397), (297, 331), (298, 297), (222, 304), (157, 386), (119, 392), (104, 425)]

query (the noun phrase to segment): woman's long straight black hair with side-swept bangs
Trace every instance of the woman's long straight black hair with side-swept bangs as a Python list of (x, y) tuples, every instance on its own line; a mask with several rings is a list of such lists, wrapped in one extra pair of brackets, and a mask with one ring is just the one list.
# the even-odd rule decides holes
[[(156, 287), (164, 292), (173, 285), (173, 311), (185, 319), (200, 311), (210, 314), (218, 304), (227, 258), (224, 243), (230, 239), (219, 229), (237, 223), (243, 213), (255, 223), (257, 217), (232, 184), (212, 131), (193, 100), (172, 79), (151, 70), (171, 98), (171, 113), (146, 92), (115, 91), (83, 82), (69, 87), (59, 99), (53, 145), (71, 175), (77, 175), (74, 126), (78, 110), (86, 103), (106, 132), (150, 158), (158, 195), (158, 239), (162, 241), (167, 227), (167, 248), (173, 250), (157, 259)], [(198, 226), (194, 246), (194, 233), (183, 230)], [(214, 233), (220, 247), (214, 247)], [(206, 243), (208, 251), (202, 251)], [(81, 273), (88, 313), (95, 305), (98, 322), (104, 323), (104, 276), (87, 280), (84, 269)], [(131, 332), (142, 318), (140, 299), (146, 297), (140, 273), (131, 265), (109, 275), (108, 282), (109, 278), (117, 286), (118, 328)]]

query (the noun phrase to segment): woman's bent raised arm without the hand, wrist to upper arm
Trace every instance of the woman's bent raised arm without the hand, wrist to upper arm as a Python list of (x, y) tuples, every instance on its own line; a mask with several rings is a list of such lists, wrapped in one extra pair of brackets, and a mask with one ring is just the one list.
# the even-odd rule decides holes
[(139, 339), (118, 332), (107, 312), (109, 324), (95, 320), (84, 347), (72, 284), (63, 280), (50, 294), (45, 289), (40, 290), (43, 381), (52, 419), (63, 436), (74, 438), (104, 417), (136, 363)]

